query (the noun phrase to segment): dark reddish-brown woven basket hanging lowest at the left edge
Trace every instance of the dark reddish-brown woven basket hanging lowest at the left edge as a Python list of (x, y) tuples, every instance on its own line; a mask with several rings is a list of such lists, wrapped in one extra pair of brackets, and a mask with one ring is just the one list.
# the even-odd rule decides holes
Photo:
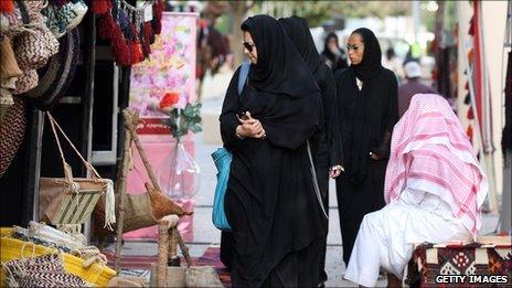
[(15, 100), (0, 122), (0, 178), (23, 142), (26, 126), (25, 104)]

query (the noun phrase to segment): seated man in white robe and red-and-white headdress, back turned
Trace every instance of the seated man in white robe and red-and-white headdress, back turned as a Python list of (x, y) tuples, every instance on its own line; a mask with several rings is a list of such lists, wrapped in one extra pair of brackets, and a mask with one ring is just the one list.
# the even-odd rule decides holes
[(401, 287), (415, 243), (477, 236), (487, 178), (447, 100), (415, 95), (393, 130), (384, 198), (361, 223), (344, 278), (374, 287), (380, 268)]

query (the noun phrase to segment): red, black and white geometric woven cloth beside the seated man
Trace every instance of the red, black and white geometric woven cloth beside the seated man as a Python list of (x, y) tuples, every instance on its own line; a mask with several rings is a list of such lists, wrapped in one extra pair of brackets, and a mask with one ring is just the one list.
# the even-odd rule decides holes
[[(439, 284), (439, 275), (506, 276), (505, 284), (489, 284), (469, 278), (465, 282)], [(406, 284), (412, 287), (511, 287), (512, 245), (422, 244), (416, 247), (408, 265)]]

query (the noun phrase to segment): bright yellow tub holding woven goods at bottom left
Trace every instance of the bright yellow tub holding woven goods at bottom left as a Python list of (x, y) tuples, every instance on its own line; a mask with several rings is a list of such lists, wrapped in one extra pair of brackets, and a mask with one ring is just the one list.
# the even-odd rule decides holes
[[(45, 247), (31, 242), (12, 238), (12, 228), (0, 228), (0, 260), (2, 264), (33, 256), (40, 256), (57, 252), (55, 248)], [(106, 287), (108, 281), (116, 276), (116, 271), (106, 265), (95, 263), (88, 268), (84, 268), (85, 260), (67, 253), (62, 253), (64, 269), (66, 273), (81, 277), (84, 281), (99, 287)], [(0, 280), (6, 280), (3, 270), (0, 273)]]

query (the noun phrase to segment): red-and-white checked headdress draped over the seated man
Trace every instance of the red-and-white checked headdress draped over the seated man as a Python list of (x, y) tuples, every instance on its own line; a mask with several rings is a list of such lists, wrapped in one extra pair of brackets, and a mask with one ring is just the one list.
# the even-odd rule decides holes
[[(473, 235), (480, 228), (480, 206), (488, 183), (474, 151), (448, 102), (439, 95), (417, 94), (393, 130), (384, 196), (396, 201), (405, 184), (435, 186)], [(434, 190), (434, 189), (431, 189)], [(467, 221), (465, 221), (465, 218)]]

